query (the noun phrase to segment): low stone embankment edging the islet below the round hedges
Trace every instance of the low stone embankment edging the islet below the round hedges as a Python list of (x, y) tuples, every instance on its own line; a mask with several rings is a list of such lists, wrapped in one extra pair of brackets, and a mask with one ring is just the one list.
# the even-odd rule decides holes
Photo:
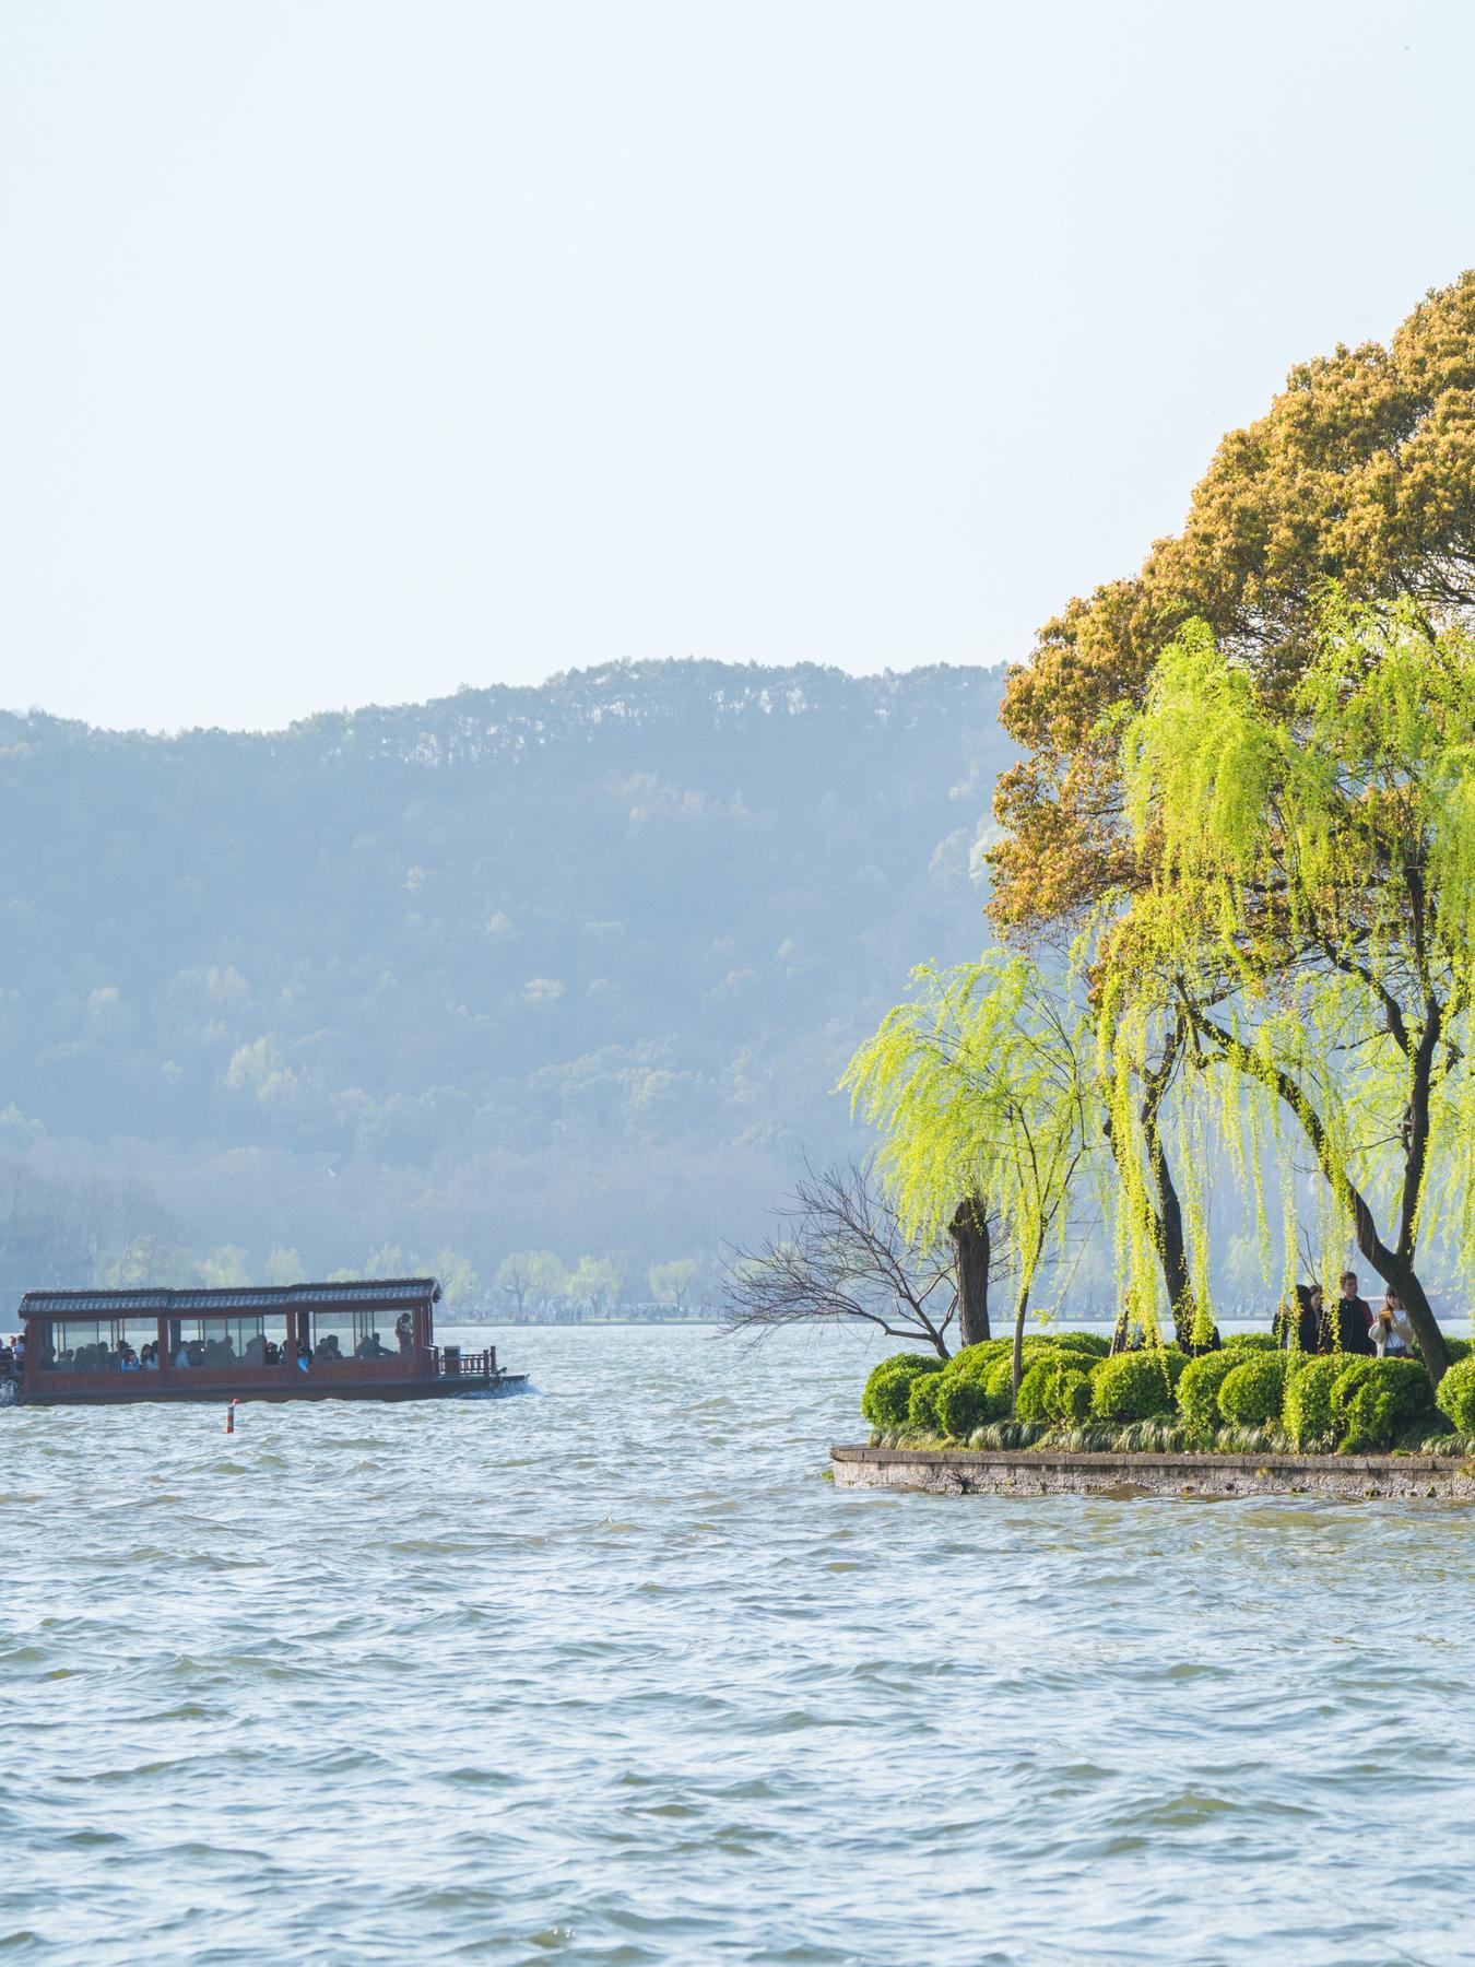
[(1475, 1461), (1457, 1456), (1149, 1456), (1068, 1450), (832, 1448), (840, 1489), (932, 1495), (1243, 1495), (1436, 1497), (1475, 1501)]

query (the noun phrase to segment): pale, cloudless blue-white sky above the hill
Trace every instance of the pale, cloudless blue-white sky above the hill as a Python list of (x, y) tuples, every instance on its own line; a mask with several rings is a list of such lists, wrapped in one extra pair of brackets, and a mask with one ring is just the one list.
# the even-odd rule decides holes
[(1475, 8), (0, 0), (0, 704), (1029, 655), (1475, 264)]

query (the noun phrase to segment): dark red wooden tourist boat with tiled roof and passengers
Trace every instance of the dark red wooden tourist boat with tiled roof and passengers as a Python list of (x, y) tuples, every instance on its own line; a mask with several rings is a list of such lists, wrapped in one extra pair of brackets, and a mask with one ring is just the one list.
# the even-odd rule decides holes
[(433, 1277), (242, 1290), (28, 1290), (8, 1404), (425, 1401), (517, 1393), (496, 1345), (435, 1343)]

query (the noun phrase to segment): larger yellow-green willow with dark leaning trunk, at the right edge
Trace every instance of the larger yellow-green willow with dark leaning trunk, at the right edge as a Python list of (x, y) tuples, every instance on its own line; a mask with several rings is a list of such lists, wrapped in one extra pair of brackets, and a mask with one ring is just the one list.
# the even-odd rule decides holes
[(1103, 1029), (1182, 1019), (1241, 1164), (1257, 1127), (1304, 1139), (1438, 1383), (1420, 1237), (1442, 1218), (1475, 1255), (1475, 645), (1331, 594), (1282, 696), (1190, 624), (1121, 775), (1141, 879), (1101, 938)]

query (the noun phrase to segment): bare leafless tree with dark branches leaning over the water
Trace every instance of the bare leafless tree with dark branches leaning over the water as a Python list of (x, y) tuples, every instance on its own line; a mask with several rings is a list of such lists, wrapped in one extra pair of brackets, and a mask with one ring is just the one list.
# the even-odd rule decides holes
[(761, 1340), (779, 1326), (871, 1324), (950, 1357), (952, 1251), (913, 1247), (869, 1164), (808, 1168), (777, 1216), (787, 1227), (761, 1249), (728, 1253), (724, 1332)]

